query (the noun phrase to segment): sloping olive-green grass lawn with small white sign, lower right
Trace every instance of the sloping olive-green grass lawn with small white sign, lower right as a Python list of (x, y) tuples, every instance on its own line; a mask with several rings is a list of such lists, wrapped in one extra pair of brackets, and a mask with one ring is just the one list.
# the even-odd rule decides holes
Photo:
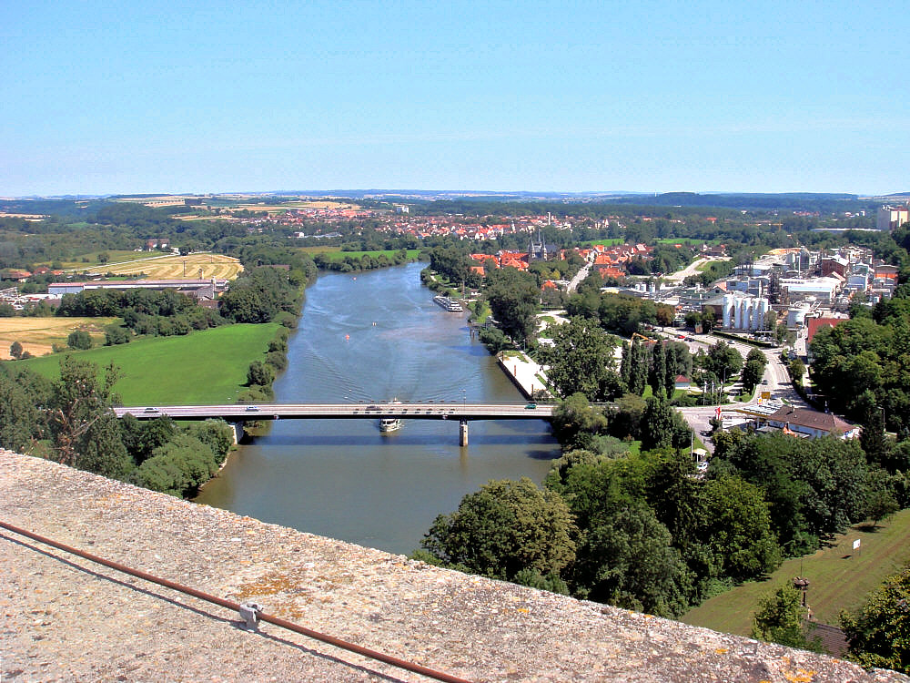
[[(854, 540), (862, 543), (853, 549)], [(801, 574), (811, 582), (808, 602), (814, 617), (837, 626), (842, 609), (852, 611), (865, 602), (885, 576), (910, 562), (910, 510), (902, 510), (871, 531), (856, 525), (838, 535), (834, 545), (802, 559), (786, 560), (767, 581), (736, 586), (683, 615), (681, 621), (715, 631), (748, 636), (759, 599)]]

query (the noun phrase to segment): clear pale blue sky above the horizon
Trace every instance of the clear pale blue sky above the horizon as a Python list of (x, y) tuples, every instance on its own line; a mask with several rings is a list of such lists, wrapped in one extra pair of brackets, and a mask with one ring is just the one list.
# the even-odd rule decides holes
[(0, 195), (910, 190), (910, 3), (0, 3)]

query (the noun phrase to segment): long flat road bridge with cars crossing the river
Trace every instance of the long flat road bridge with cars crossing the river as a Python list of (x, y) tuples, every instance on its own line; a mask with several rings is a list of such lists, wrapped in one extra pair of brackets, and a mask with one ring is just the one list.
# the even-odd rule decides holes
[(470, 420), (549, 420), (555, 404), (537, 403), (249, 403), (222, 405), (155, 405), (117, 407), (117, 417), (139, 420), (167, 416), (174, 420), (221, 418), (227, 422), (253, 420), (458, 420), (460, 444), (468, 445)]

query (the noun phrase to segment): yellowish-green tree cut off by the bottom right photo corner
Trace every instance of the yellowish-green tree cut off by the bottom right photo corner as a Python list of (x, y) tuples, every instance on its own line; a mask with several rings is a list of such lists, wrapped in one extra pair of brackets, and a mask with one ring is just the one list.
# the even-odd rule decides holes
[(910, 674), (910, 567), (885, 582), (855, 614), (841, 612), (850, 644), (847, 658), (864, 667), (893, 668)]

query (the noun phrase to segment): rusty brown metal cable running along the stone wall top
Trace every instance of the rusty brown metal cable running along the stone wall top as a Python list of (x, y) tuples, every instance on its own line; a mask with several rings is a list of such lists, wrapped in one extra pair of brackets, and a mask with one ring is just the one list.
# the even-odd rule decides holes
[[(45, 545), (50, 545), (51, 547), (55, 547), (58, 550), (62, 550), (66, 553), (70, 553), (72, 555), (82, 557), (86, 560), (96, 562), (99, 565), (104, 565), (104, 566), (110, 567), (111, 569), (116, 569), (116, 571), (118, 571), (118, 572), (123, 572), (124, 574), (129, 574), (131, 576), (136, 576), (137, 578), (141, 578), (144, 581), (149, 581), (153, 584), (157, 584), (158, 586), (165, 586), (167, 588), (170, 588), (171, 590), (176, 590), (180, 593), (185, 593), (187, 596), (197, 597), (200, 600), (205, 600), (207, 602), (214, 603), (215, 605), (219, 605), (221, 607), (226, 607), (227, 609), (230, 609), (235, 612), (240, 611), (240, 607), (241, 607), (240, 604), (237, 602), (234, 602), (233, 600), (226, 600), (222, 597), (213, 596), (208, 593), (204, 593), (201, 590), (197, 590), (196, 588), (191, 588), (189, 586), (183, 586), (182, 584), (178, 584), (175, 581), (170, 581), (167, 578), (161, 578), (160, 576), (154, 576), (152, 574), (148, 574), (147, 572), (143, 572), (143, 571), (134, 569), (134, 568), (126, 566), (126, 565), (121, 565), (118, 562), (114, 562), (112, 560), (105, 559), (104, 557), (92, 555), (91, 553), (86, 553), (85, 551), (79, 550), (78, 548), (74, 548), (70, 545), (66, 545), (63, 543), (59, 543), (53, 539), (47, 538), (42, 535), (33, 534), (30, 531), (27, 531), (23, 528), (15, 526), (15, 525), (7, 524), (6, 522), (3, 522), (3, 521), (0, 521), (0, 527), (6, 529), (7, 531), (11, 531), (15, 534), (24, 535), (26, 538), (31, 538), (32, 540), (37, 541), (39, 543), (43, 543)], [(420, 664), (415, 664), (414, 662), (409, 662), (405, 659), (399, 659), (397, 657), (392, 657), (391, 655), (387, 655), (383, 652), (369, 649), (369, 647), (362, 647), (362, 646), (356, 645), (354, 643), (349, 643), (346, 640), (342, 640), (342, 639), (334, 637), (334, 636), (329, 636), (327, 634), (320, 633), (319, 631), (314, 631), (311, 628), (298, 626), (297, 624), (294, 624), (293, 622), (290, 622), (287, 619), (282, 619), (281, 617), (273, 617), (272, 615), (268, 615), (265, 612), (259, 612), (259, 611), (257, 611), (256, 616), (258, 617), (258, 619), (260, 621), (265, 621), (265, 622), (268, 622), (269, 624), (274, 624), (275, 626), (278, 626), (278, 627), (287, 628), (289, 631), (294, 631), (295, 633), (299, 633), (302, 636), (311, 637), (316, 640), (321, 640), (323, 643), (328, 643), (329, 645), (333, 645), (335, 647), (340, 647), (342, 649), (349, 650), (350, 652), (355, 652), (364, 657), (376, 659), (380, 662), (385, 662), (386, 664), (390, 664), (393, 667), (403, 668), (408, 671), (412, 671), (414, 673), (420, 674), (421, 676), (426, 676), (428, 678), (435, 678), (436, 680), (447, 681), (447, 683), (470, 683), (470, 680), (468, 680), (467, 678), (459, 678), (457, 676), (452, 676), (451, 674), (447, 674), (444, 671), (436, 671), (435, 669), (427, 668), (427, 667), (421, 666)]]

